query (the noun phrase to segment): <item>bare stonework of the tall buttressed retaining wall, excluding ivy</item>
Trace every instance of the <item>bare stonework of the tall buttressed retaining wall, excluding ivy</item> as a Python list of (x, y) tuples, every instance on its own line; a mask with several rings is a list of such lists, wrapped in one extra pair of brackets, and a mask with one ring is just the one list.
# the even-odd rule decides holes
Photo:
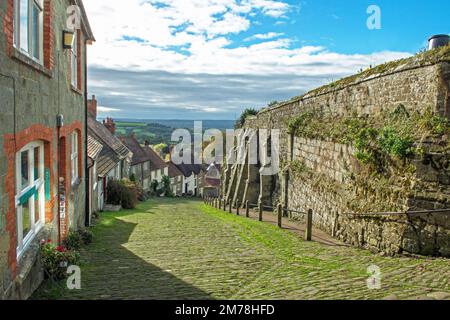
[[(444, 59), (433, 63), (414, 57), (388, 65), (380, 73), (369, 71), (319, 88), (248, 118), (246, 128), (280, 129), (281, 162), (301, 161), (313, 175), (295, 177), (291, 172), (280, 173), (278, 179), (260, 177), (260, 188), (252, 188), (259, 195), (247, 192), (241, 201), (276, 194), (278, 199), (273, 202), (284, 203), (294, 210), (313, 209), (316, 227), (352, 245), (388, 254), (450, 256), (449, 213), (361, 216), (358, 214), (365, 213), (363, 206), (361, 210), (354, 210), (355, 202), (352, 203), (358, 194), (367, 203), (392, 203), (404, 211), (449, 208), (450, 153), (413, 159), (417, 184), (412, 192), (408, 195), (392, 192), (387, 196), (381, 190), (361, 190), (351, 179), (352, 173), (360, 169), (352, 146), (293, 138), (288, 132), (289, 121), (306, 110), (332, 116), (377, 117), (401, 104), (410, 111), (431, 109), (450, 118), (449, 84), (448, 53)], [(239, 172), (237, 167), (230, 167), (229, 172)], [(238, 175), (229, 179), (225, 173), (229, 193), (236, 190), (230, 181), (238, 180)], [(265, 183), (267, 180), (270, 181)], [(388, 187), (394, 191), (403, 188), (402, 185)]]

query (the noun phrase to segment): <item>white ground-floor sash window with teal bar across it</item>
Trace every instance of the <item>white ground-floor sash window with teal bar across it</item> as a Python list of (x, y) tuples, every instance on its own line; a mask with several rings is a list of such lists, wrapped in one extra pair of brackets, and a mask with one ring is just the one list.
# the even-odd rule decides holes
[(44, 144), (32, 142), (16, 155), (17, 257), (45, 223)]

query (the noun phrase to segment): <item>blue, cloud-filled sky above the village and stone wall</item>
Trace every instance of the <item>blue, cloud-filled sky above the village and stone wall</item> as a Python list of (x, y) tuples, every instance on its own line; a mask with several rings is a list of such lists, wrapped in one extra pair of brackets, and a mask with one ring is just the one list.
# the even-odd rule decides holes
[[(84, 0), (99, 115), (234, 120), (449, 33), (444, 0)], [(370, 28), (376, 5), (380, 28)], [(445, 16), (447, 14), (447, 17)]]

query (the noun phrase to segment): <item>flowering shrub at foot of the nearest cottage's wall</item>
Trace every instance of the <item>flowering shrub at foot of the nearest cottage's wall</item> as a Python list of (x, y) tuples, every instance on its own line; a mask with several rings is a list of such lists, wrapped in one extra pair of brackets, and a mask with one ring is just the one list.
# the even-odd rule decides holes
[(62, 280), (67, 278), (67, 267), (78, 265), (80, 255), (64, 246), (56, 246), (51, 241), (41, 242), (41, 261), (47, 277)]

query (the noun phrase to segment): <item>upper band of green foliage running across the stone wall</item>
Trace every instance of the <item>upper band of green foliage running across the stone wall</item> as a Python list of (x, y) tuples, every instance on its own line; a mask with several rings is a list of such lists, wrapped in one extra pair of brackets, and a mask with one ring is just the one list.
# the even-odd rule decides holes
[(331, 139), (350, 144), (355, 157), (364, 164), (382, 167), (389, 157), (405, 159), (420, 153), (415, 142), (450, 134), (449, 120), (431, 111), (409, 112), (399, 105), (378, 118), (325, 116), (303, 112), (289, 122), (289, 132), (309, 139)]

